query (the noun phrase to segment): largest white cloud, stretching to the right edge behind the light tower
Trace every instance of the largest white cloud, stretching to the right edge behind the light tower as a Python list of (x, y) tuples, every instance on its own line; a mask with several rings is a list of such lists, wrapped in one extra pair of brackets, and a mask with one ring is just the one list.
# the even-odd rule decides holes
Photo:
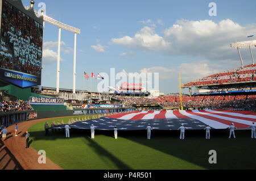
[[(160, 23), (160, 21), (159, 21)], [(233, 41), (244, 41), (256, 31), (256, 24), (241, 26), (230, 19), (215, 23), (212, 20), (178, 20), (158, 35), (154, 27), (143, 27), (134, 37), (112, 39), (113, 44), (144, 52), (167, 55), (203, 56), (208, 60), (237, 60), (236, 50), (230, 48)], [(243, 52), (242, 52), (243, 53)], [(242, 54), (250, 58), (249, 53)]]

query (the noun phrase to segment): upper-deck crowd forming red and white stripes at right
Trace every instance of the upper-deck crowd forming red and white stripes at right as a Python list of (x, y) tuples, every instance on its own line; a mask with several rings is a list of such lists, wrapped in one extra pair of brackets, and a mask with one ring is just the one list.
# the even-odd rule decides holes
[(183, 86), (222, 85), (229, 82), (256, 81), (256, 64), (237, 69), (224, 71), (223, 73), (210, 75), (198, 81), (186, 83)]

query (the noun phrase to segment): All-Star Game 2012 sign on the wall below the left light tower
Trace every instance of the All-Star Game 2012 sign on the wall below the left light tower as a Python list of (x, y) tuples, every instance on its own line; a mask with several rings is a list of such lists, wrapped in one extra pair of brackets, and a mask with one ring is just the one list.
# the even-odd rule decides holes
[(40, 97), (30, 97), (31, 105), (64, 105), (64, 99), (60, 98), (40, 98)]

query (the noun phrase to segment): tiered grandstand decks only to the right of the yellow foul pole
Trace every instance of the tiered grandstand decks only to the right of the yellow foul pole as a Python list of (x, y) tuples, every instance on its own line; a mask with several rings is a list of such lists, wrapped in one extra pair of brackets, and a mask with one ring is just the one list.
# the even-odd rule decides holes
[[(189, 89), (190, 100), (183, 98), (186, 107), (255, 110), (256, 65), (209, 75), (181, 87)], [(196, 88), (193, 96), (192, 87)]]

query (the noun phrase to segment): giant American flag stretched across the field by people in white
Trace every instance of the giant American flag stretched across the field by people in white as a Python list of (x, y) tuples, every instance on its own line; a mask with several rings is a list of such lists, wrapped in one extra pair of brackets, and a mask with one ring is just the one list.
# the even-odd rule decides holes
[[(71, 124), (71, 128), (90, 129), (94, 125), (98, 130), (144, 130), (150, 124), (155, 130), (177, 130), (181, 124), (187, 130), (204, 129), (208, 125), (213, 129), (226, 129), (232, 123), (236, 128), (247, 129), (256, 122), (256, 113), (247, 111), (189, 110), (189, 111), (137, 111), (119, 113), (88, 121)], [(55, 128), (64, 128), (64, 125)]]

